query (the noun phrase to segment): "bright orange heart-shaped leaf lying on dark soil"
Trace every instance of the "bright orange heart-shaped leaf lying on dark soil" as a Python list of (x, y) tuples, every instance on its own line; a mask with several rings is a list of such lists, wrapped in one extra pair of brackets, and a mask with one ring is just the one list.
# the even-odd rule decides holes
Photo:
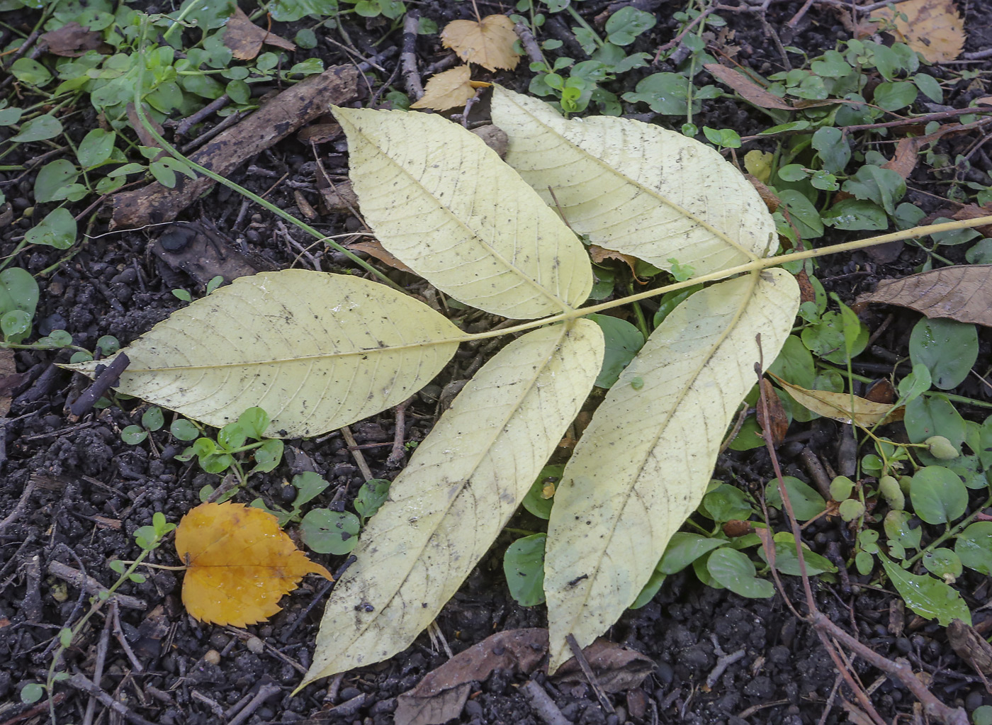
[(333, 579), (279, 528), (272, 514), (244, 504), (201, 504), (176, 529), (188, 568), (183, 604), (200, 622), (245, 627), (280, 611), (304, 574)]

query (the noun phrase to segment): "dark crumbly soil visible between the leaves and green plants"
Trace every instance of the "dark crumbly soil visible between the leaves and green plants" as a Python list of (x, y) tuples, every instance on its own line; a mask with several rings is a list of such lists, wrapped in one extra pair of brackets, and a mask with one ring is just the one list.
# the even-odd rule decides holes
[[(671, 16), (682, 10), (682, 3), (647, 0), (635, 4), (655, 12), (660, 22), (632, 50), (653, 52), (673, 37), (676, 23)], [(797, 29), (789, 29), (786, 23), (801, 6), (801, 2), (790, 0), (773, 3), (768, 9), (768, 28), (778, 32), (784, 45), (815, 56), (849, 37), (839, 14), (827, 5), (813, 5)], [(579, 10), (591, 21), (606, 7), (606, 2), (593, 0), (583, 3)], [(438, 25), (456, 17), (470, 17), (470, 8), (463, 4), (434, 1), (420, 9)], [(968, 3), (963, 9), (969, 34), (965, 51), (989, 48), (992, 6), (982, 0)], [(498, 10), (493, 7), (493, 12)], [(22, 16), (27, 13), (7, 13), (0, 19), (15, 26), (28, 24), (30, 19)], [(783, 67), (760, 13), (725, 12), (723, 16), (735, 33), (734, 43), (741, 47), (740, 60), (766, 74)], [(560, 22), (558, 17), (555, 22)], [(295, 28), (279, 24), (273, 30), (291, 38), (295, 33)], [(382, 54), (402, 43), (399, 31), (388, 31), (389, 26), (378, 20), (348, 26), (351, 40), (367, 56)], [(371, 46), (380, 40), (375, 48)], [(419, 53), (423, 68), (447, 52), (439, 48), (436, 37), (430, 37), (420, 40)], [(328, 66), (348, 62), (330, 43), (301, 53), (298, 60), (308, 55), (318, 55)], [(398, 54), (382, 62), (392, 71)], [(988, 60), (966, 67), (986, 72), (992, 69)], [(654, 67), (651, 72), (660, 69), (666, 68)], [(526, 63), (515, 73), (502, 73), (498, 78), (511, 86), (526, 87)], [(970, 98), (987, 95), (981, 82), (960, 82), (946, 102), (960, 107)], [(645, 118), (643, 111), (643, 106), (628, 109), (641, 114), (640, 118)], [(81, 124), (81, 137), (95, 120), (91, 113), (80, 113), (76, 118)], [(653, 120), (673, 122), (666, 117)], [(742, 136), (767, 125), (748, 106), (729, 98), (707, 102), (696, 123), (700, 127), (705, 124), (733, 128)], [(953, 159), (975, 140), (968, 135), (949, 137), (941, 142), (941, 151)], [(329, 172), (346, 166), (343, 140), (316, 149)], [(31, 155), (46, 150), (41, 145), (24, 146), (8, 155), (4, 164), (22, 164)], [(314, 166), (310, 148), (291, 137), (270, 152), (246, 160), (233, 179), (258, 193), (276, 184), (269, 198), (300, 214), (294, 189), (318, 205)], [(972, 157), (972, 167), (983, 174), (992, 171), (983, 151)], [(34, 204), (34, 174), (18, 174), (0, 172), (0, 182), (14, 209), (20, 211)], [(285, 180), (284, 175), (288, 175)], [(948, 206), (940, 198), (945, 186), (936, 181), (928, 170), (918, 169), (910, 182), (913, 190), (908, 200), (929, 213)], [(81, 207), (75, 209), (76, 213), (80, 211)], [(243, 206), (241, 199), (227, 189), (214, 189), (181, 218), (211, 225), (228, 240), (228, 253), (245, 253), (256, 266), (286, 268), (298, 257), (298, 249), (287, 243), (274, 217), (250, 205)], [(325, 215), (314, 223), (328, 234), (356, 228), (354, 219), (339, 214)], [(6, 256), (13, 251), (27, 226), (30, 222), (9, 225), (0, 231), (0, 254)], [(39, 275), (42, 295), (38, 332), (46, 334), (64, 328), (77, 344), (88, 349), (93, 349), (98, 337), (107, 334), (126, 344), (184, 304), (171, 294), (172, 290), (193, 289), (201, 295), (202, 284), (151, 253), (161, 232), (161, 228), (153, 227), (107, 233), (106, 221), (100, 217), (88, 229), (91, 238), (78, 247), (74, 256), (63, 257), (62, 252), (49, 248), (21, 252), (16, 263), (32, 273), (58, 264), (54, 271)], [(310, 244), (295, 230), (290, 233), (303, 246)], [(823, 243), (836, 241), (843, 241), (842, 235), (827, 236)], [(960, 251), (957, 247), (951, 253)], [(340, 271), (346, 266), (347, 260), (336, 253), (311, 254), (320, 269)], [(873, 289), (878, 280), (902, 277), (922, 261), (919, 250), (911, 247), (904, 247), (901, 256), (886, 264), (867, 253), (856, 253), (826, 258), (819, 278), (827, 290), (836, 291), (850, 302), (858, 293)], [(410, 278), (402, 281), (414, 284)], [(906, 355), (908, 333), (916, 315), (883, 308), (867, 311), (864, 319), (874, 330), (889, 311), (893, 311), (894, 318), (876, 343), (881, 352), (869, 352), (859, 358), (862, 364), (855, 366), (856, 372), (885, 377), (892, 369), (892, 361)], [(427, 434), (434, 422), (441, 388), (465, 377), (464, 371), (476, 354), (460, 353), (415, 399), (407, 412), (407, 440), (418, 440)], [(987, 335), (983, 336), (983, 355), (987, 360)], [(47, 713), (22, 705), (18, 692), (26, 682), (45, 679), (60, 629), (77, 621), (88, 607), (85, 592), (50, 573), (52, 563), (62, 562), (108, 585), (116, 575), (107, 568), (107, 560), (132, 559), (139, 553), (133, 539), (137, 528), (149, 524), (157, 511), (169, 521), (178, 522), (199, 503), (197, 492), (203, 485), (219, 483), (217, 476), (175, 460), (182, 443), (165, 432), (153, 433), (149, 441), (140, 445), (123, 443), (120, 429), (138, 423), (143, 410), (137, 401), (125, 404), (126, 410), (111, 407), (81, 418), (69, 414), (66, 403), (79, 394), (85, 382), (55, 367), (55, 363), (66, 359), (67, 353), (20, 351), (16, 354), (18, 377), (0, 381), (13, 397), (8, 418), (0, 421), (0, 517), (9, 517), (0, 525), (0, 724), (45, 721)], [(987, 386), (981, 383), (966, 383), (957, 392), (980, 400), (990, 398)], [(963, 410), (968, 415), (967, 408)], [(795, 425), (780, 452), (785, 472), (806, 477), (800, 463), (800, 454), (806, 447), (836, 468), (842, 437), (838, 427), (822, 420)], [(398, 471), (386, 465), (394, 428), (392, 412), (352, 426), (359, 444), (380, 444), (363, 449), (376, 476), (392, 478)], [(311, 464), (332, 483), (315, 503), (348, 501), (363, 478), (345, 445), (338, 432), (316, 440), (288, 441), (287, 463), (272, 475), (255, 478), (255, 487), (269, 500), (285, 502), (285, 496), (292, 497), (293, 493), (285, 480), (297, 470), (295, 466), (302, 469)], [(716, 477), (745, 487), (759, 486), (771, 475), (769, 457), (763, 449), (726, 455), (716, 472)], [(29, 488), (30, 493), (25, 494)], [(23, 506), (18, 506), (19, 501)], [(810, 526), (805, 538), (814, 550), (841, 563), (850, 553), (850, 534), (832, 519)], [(440, 633), (455, 653), (496, 631), (546, 623), (543, 608), (522, 608), (509, 596), (501, 566), (505, 544), (498, 544), (480, 563), (437, 619)], [(315, 558), (331, 569), (341, 564), (340, 559)], [(170, 543), (151, 560), (179, 563)], [(905, 626), (900, 625), (900, 618), (895, 616), (901, 611), (900, 602), (893, 593), (858, 586), (859, 582), (864, 584), (867, 578), (852, 573), (850, 581), (836, 584), (814, 581), (819, 607), (875, 652), (908, 659), (917, 671), (926, 673), (932, 691), (946, 704), (964, 706), (969, 711), (981, 704), (992, 704), (992, 695), (985, 691), (974, 671), (948, 647), (942, 628), (910, 614), (906, 615)], [(291, 691), (310, 665), (327, 587), (310, 577), (284, 599), (284, 610), (268, 624), (239, 631), (192, 620), (181, 603), (181, 584), (179, 575), (163, 571), (149, 575), (143, 584), (127, 584), (121, 590), (140, 599), (144, 607), (119, 608), (119, 629), (109, 637), (98, 684), (123, 704), (128, 717), (138, 716), (163, 725), (228, 722), (260, 687), (275, 684), (275, 693), (261, 703), (253, 701), (244, 711), (247, 717), (238, 719), (239, 723), (306, 720), (384, 725), (393, 721), (397, 695), (447, 659), (425, 634), (407, 652), (388, 662), (322, 681), (292, 696)], [(795, 580), (787, 581), (787, 585), (793, 600), (802, 601)], [(959, 580), (959, 590), (973, 609), (990, 596), (989, 582), (973, 573)], [(980, 619), (978, 613), (976, 620)], [(102, 616), (94, 618), (92, 626), (75, 641), (65, 657), (67, 671), (92, 675), (104, 621)], [(725, 590), (705, 588), (691, 574), (683, 573), (670, 577), (653, 602), (628, 612), (607, 636), (649, 656), (657, 667), (639, 688), (612, 696), (616, 712), (610, 715), (588, 687), (559, 688), (538, 675), (569, 722), (798, 725), (846, 720), (840, 701), (850, 698), (850, 693), (844, 687), (834, 692), (839, 679), (833, 663), (815, 634), (797, 620), (781, 596), (743, 599)], [(133, 657), (127, 655), (121, 640), (128, 644)], [(707, 686), (707, 676), (721, 657), (739, 651), (743, 656), (726, 666)], [(865, 687), (877, 686), (872, 689), (872, 699), (883, 716), (890, 721), (912, 717), (914, 700), (907, 690), (860, 661), (855, 661), (853, 668)], [(479, 682), (457, 721), (520, 725), (541, 722), (530, 700), (518, 690), (524, 681), (525, 675), (498, 671)], [(81, 722), (89, 696), (66, 685), (58, 686), (57, 692), (59, 721)], [(122, 721), (122, 715), (106, 709), (104, 703), (96, 703), (95, 714), (100, 719), (94, 722)]]

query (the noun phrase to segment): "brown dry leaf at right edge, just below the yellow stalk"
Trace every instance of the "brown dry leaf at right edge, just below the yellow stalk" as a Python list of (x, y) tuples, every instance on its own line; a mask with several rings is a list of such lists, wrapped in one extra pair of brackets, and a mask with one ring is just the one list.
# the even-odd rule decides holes
[(928, 317), (992, 327), (992, 265), (957, 265), (902, 280), (884, 280), (858, 302), (898, 304)]

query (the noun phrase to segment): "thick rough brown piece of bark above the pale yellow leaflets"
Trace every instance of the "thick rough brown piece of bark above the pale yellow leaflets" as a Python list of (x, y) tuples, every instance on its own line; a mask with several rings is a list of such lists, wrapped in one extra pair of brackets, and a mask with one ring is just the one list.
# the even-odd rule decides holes
[[(351, 66), (335, 65), (287, 88), (189, 158), (215, 174), (227, 176), (259, 152), (326, 113), (328, 105), (357, 97), (358, 71)], [(110, 228), (172, 221), (213, 183), (206, 177), (190, 180), (178, 175), (175, 188), (156, 181), (114, 194)]]

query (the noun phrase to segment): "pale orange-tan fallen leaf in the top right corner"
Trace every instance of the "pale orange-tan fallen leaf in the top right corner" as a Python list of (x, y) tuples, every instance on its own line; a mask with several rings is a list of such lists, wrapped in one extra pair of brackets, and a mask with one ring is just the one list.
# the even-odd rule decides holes
[[(957, 14), (952, 0), (909, 0), (899, 3), (896, 12), (906, 20), (896, 18), (896, 37), (933, 63), (954, 60), (964, 50), (964, 21)], [(872, 13), (871, 20), (892, 21), (893, 13), (882, 8)]]

